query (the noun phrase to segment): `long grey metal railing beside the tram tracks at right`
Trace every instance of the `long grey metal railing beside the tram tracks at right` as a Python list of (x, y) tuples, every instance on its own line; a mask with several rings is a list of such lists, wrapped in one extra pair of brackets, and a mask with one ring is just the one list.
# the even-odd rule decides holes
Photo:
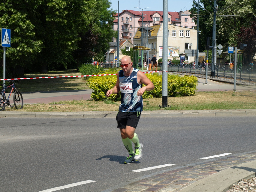
[[(163, 70), (162, 63), (158, 63), (160, 69)], [(216, 65), (215, 67), (215, 77), (223, 77), (223, 78), (234, 78), (234, 70), (233, 67), (229, 67), (228, 65), (221, 64)], [(170, 64), (168, 65), (168, 71), (176, 72), (176, 73), (189, 73), (189, 74), (199, 74), (206, 75), (205, 67), (198, 65), (195, 66), (194, 63), (188, 64)], [(208, 65), (208, 76), (211, 76), (212, 66)], [(239, 66), (236, 68), (236, 79), (246, 80), (246, 81), (254, 81), (256, 82), (256, 70), (248, 67), (246, 65)]]

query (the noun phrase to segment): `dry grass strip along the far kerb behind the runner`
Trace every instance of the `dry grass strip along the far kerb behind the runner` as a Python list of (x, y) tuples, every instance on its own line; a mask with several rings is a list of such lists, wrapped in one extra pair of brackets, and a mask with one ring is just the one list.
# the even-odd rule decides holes
[[(168, 98), (165, 109), (160, 108), (162, 98), (143, 100), (143, 110), (225, 110), (225, 109), (256, 109), (256, 91), (219, 91), (196, 92), (193, 96)], [(117, 111), (120, 102), (92, 101), (60, 101), (50, 104), (26, 104), (20, 111)], [(14, 110), (15, 108), (6, 108)]]

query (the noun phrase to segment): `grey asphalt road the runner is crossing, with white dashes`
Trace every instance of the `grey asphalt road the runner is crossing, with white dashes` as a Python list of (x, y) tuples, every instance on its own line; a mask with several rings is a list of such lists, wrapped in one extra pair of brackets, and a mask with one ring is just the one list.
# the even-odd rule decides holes
[[(255, 128), (255, 116), (143, 117), (143, 157), (123, 164), (128, 153), (114, 118), (1, 118), (0, 191), (100, 192), (200, 158), (255, 151)], [(133, 171), (166, 164), (175, 165)]]

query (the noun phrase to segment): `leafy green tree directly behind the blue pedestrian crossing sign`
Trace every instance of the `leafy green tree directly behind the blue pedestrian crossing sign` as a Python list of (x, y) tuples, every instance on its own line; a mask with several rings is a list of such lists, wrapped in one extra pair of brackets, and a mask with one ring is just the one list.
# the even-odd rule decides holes
[[(6, 48), (6, 77), (22, 76), (22, 68), (32, 67), (33, 60), (43, 48), (43, 41), (36, 38), (35, 25), (29, 16), (31, 13), (34, 18), (35, 7), (32, 1), (0, 2), (0, 27), (11, 29), (11, 47)], [(2, 59), (3, 49), (0, 49), (0, 52)]]

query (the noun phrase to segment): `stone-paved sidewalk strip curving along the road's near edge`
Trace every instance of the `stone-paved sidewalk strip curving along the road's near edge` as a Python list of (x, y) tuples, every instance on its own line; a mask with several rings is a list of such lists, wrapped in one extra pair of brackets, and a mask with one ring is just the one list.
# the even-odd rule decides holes
[[(240, 179), (255, 176), (255, 164), (256, 151), (231, 154), (131, 179), (128, 185), (102, 192), (224, 192)], [(211, 178), (207, 180), (208, 177)]]

